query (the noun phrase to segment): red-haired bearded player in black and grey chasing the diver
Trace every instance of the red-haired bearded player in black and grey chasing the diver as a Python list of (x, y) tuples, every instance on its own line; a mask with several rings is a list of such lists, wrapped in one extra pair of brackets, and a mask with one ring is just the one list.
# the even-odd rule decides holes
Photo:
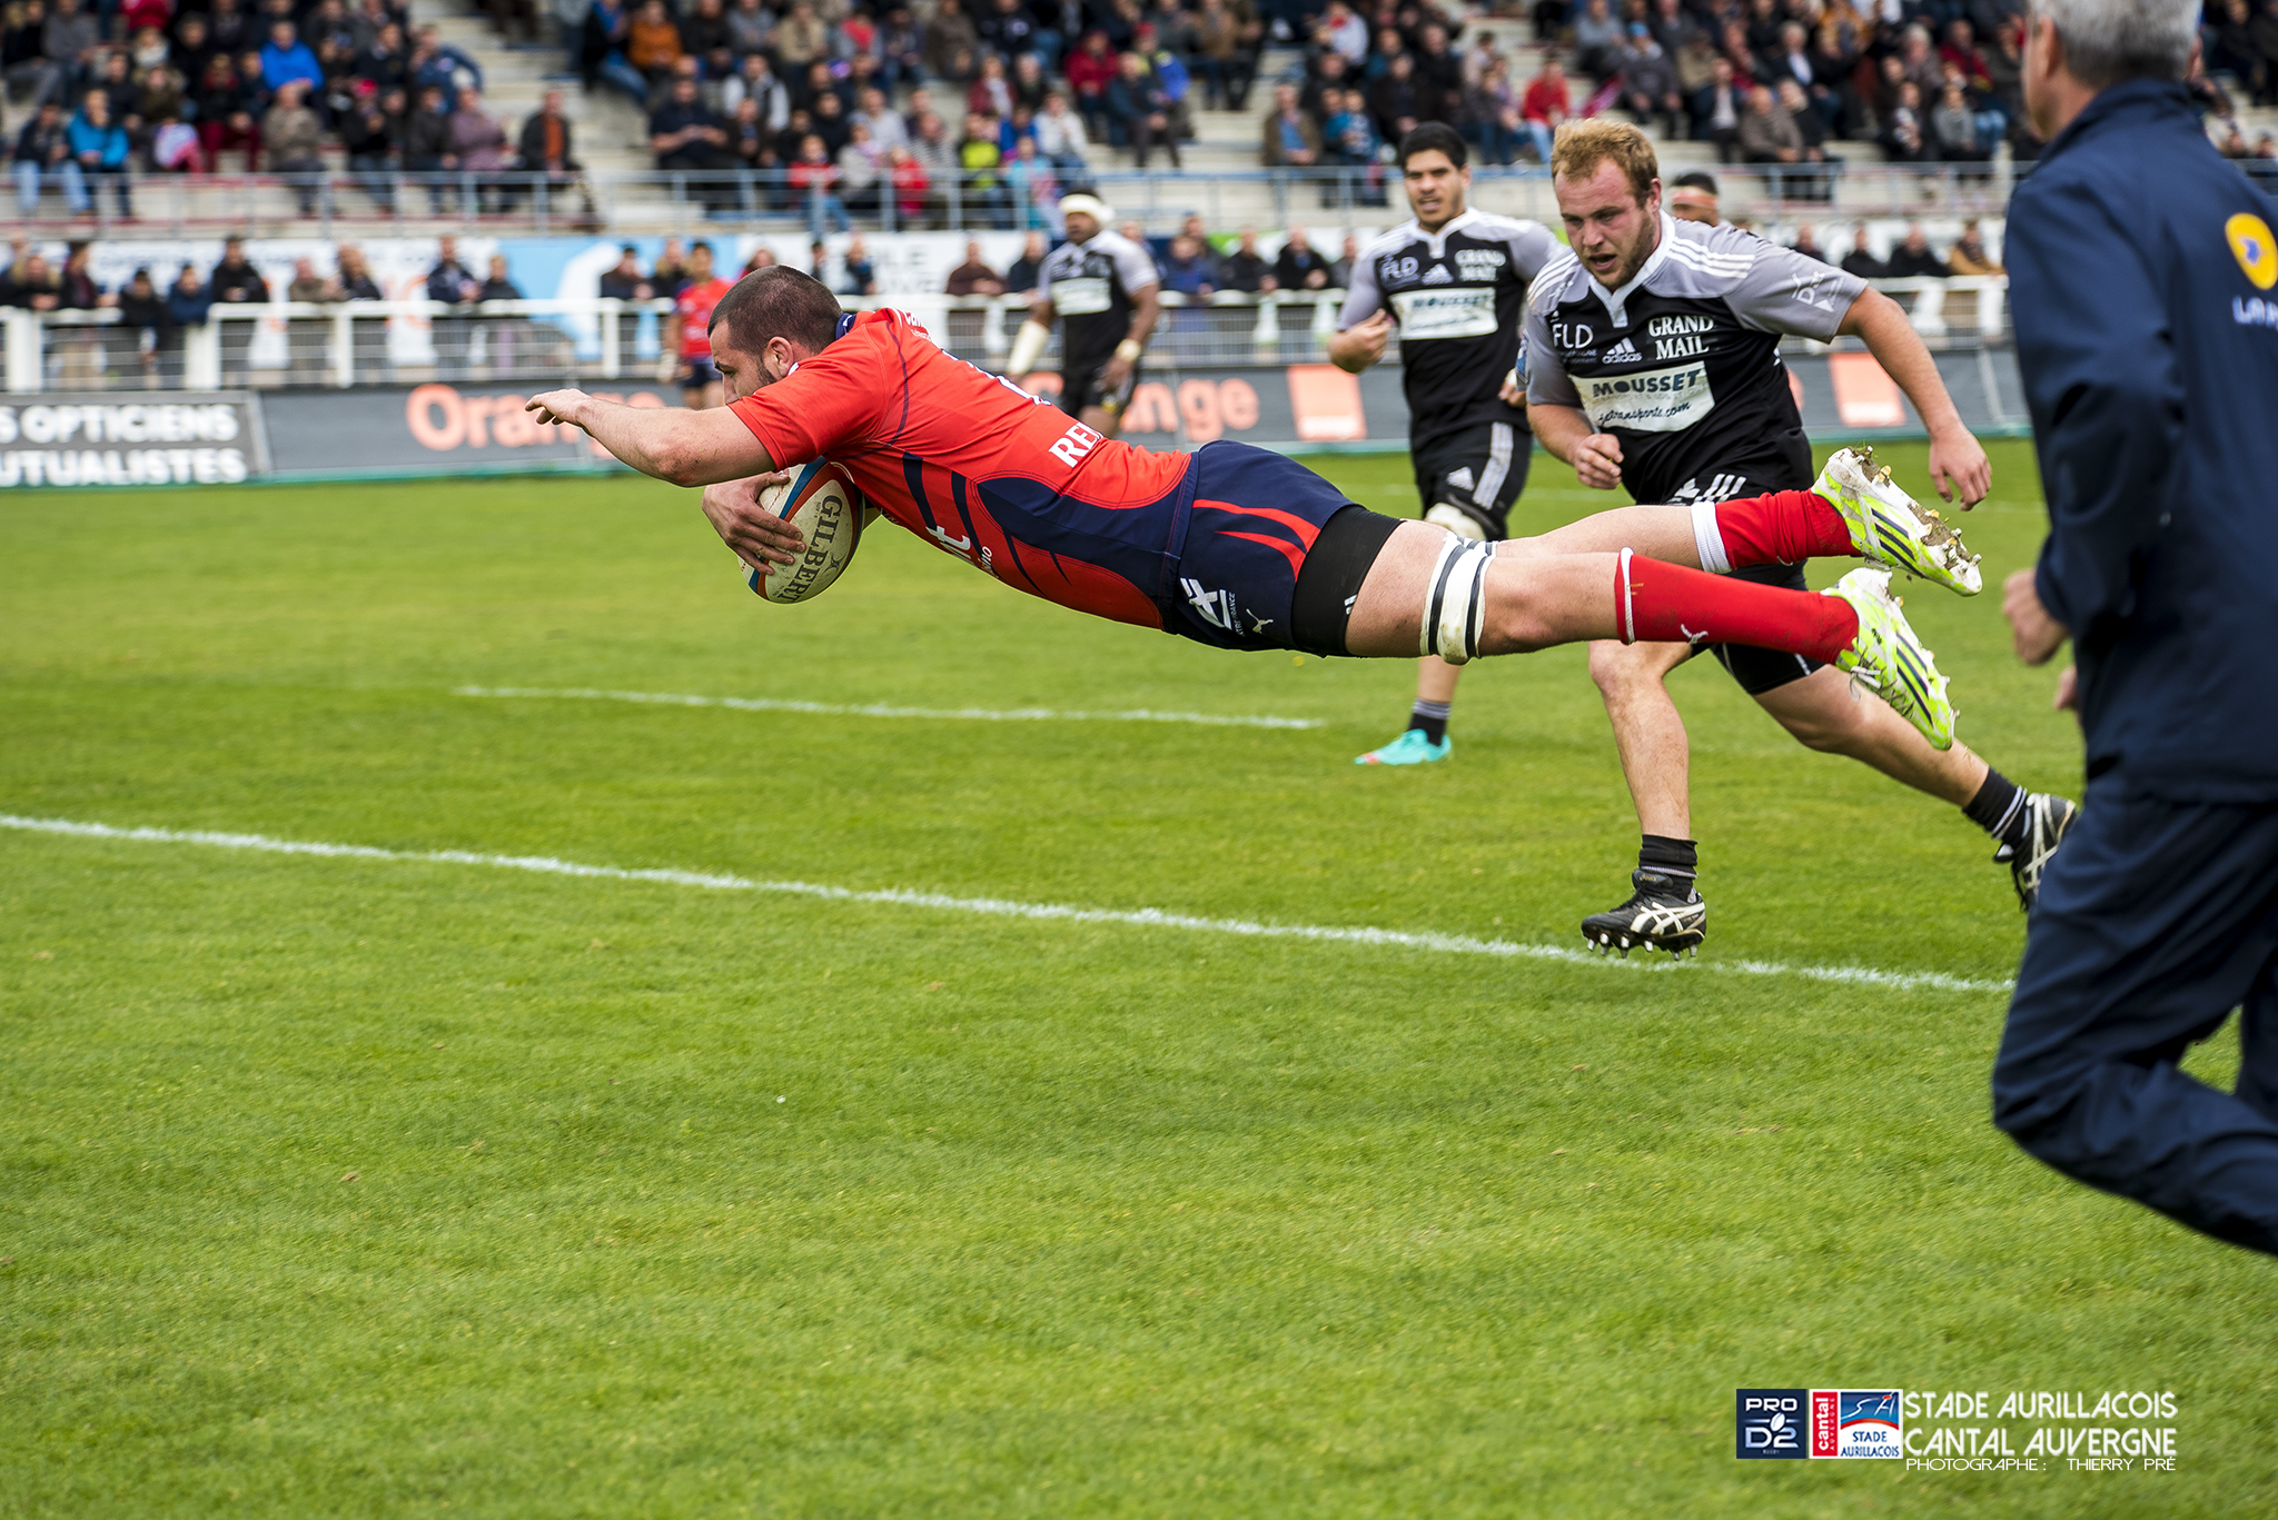
[[(1570, 248), (1535, 278), (1526, 305), (1526, 401), (1542, 447), (1583, 485), (1626, 485), (1640, 501), (1711, 513), (1718, 501), (1811, 481), (1781, 333), (1854, 333), (1929, 428), (1929, 474), (1964, 504), (1986, 495), (1984, 449), (1961, 426), (1939, 369), (1907, 314), (1857, 276), (1775, 248), (1736, 228), (1674, 221), (1661, 207), (1654, 148), (1633, 125), (1574, 121), (1551, 148), (1551, 189)], [(1845, 481), (1838, 453), (1813, 490)], [(1704, 567), (1727, 570), (1711, 556)], [(1761, 565), (1740, 579), (1804, 586), (1802, 565)], [(1975, 570), (1970, 572), (1975, 577)], [(1923, 743), (1879, 702), (1852, 700), (1841, 672), (1747, 640), (1599, 645), (1590, 675), (1606, 697), (1642, 843), (1633, 896), (1583, 921), (1599, 948), (1642, 939), (1699, 943), (1708, 909), (1688, 804), (1686, 727), (1663, 686), (1706, 645), (1740, 688), (1813, 750), (1850, 754), (1959, 807), (2000, 841), (2032, 907), (2041, 866), (2073, 818), (2064, 798), (2025, 793), (1966, 747)]]

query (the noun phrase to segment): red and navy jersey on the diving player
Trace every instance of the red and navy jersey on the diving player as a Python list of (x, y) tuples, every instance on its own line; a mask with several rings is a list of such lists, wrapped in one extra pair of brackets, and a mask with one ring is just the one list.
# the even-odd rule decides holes
[(731, 410), (777, 467), (841, 465), (870, 506), (1007, 586), (1162, 627), (1191, 456), (1100, 438), (952, 358), (907, 312), (863, 312)]

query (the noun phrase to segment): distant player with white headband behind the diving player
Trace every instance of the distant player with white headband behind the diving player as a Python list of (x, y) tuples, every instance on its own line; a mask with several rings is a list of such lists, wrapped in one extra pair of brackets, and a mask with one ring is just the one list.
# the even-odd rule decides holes
[(1146, 340), (1162, 319), (1162, 280), (1144, 244), (1107, 230), (1109, 212), (1098, 196), (1064, 196), (1059, 214), (1068, 242), (1036, 271), (1036, 301), (1011, 340), (1007, 369), (1023, 376), (1036, 367), (1057, 312), (1059, 410), (1114, 438), (1139, 383)]

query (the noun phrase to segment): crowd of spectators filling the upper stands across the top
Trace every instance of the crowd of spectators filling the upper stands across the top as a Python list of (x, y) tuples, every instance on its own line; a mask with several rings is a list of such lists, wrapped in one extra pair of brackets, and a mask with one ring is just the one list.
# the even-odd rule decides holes
[[(494, 0), (535, 39), (533, 0)], [(592, 0), (565, 27), (588, 89), (647, 114), (658, 169), (720, 210), (1052, 230), (1103, 155), (1180, 166), (1198, 107), (1244, 107), (1267, 46), (1267, 166), (1367, 169), (1449, 121), (1488, 164), (1544, 160), (1570, 116), (1624, 112), (1727, 162), (1811, 164), (1877, 144), (1900, 164), (2030, 160), (2018, 93), (2025, 0), (1538, 0), (1540, 57), (1515, 59), (1442, 0)], [(1469, 34), (1467, 34), (1469, 32)], [(2278, 103), (2278, 0), (2210, 0), (2207, 112)], [(403, 0), (0, 0), (0, 89), (18, 210), (43, 196), (132, 216), (134, 173), (223, 155), (296, 178), (303, 207), (344, 169), (383, 210), (396, 173), (431, 210), (513, 210), (579, 162), (558, 98), (519, 123), (483, 103), (474, 57)], [(2232, 157), (2278, 153), (2244, 128)], [(1114, 162), (1125, 162), (1123, 157)], [(718, 175), (706, 171), (765, 171)], [(713, 180), (736, 180), (727, 189)]]

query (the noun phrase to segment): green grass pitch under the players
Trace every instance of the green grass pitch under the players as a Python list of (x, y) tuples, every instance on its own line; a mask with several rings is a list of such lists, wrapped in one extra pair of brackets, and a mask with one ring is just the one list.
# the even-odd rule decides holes
[[(2041, 531), (1993, 465), (1989, 588)], [(1538, 458), (1519, 517), (1606, 504)], [(1581, 649), (1385, 773), (1406, 663), (893, 531), (772, 608), (645, 481), (0, 513), (5, 814), (1576, 948), (1626, 891)], [(1998, 590), (1907, 608), (1961, 736), (2078, 788)], [(1674, 690), (1679, 971), (0, 830), (0, 1513), (2271, 1513), (2269, 1262), (1993, 1133), (2002, 994), (1731, 971), (2002, 982), (1991, 843)], [(2182, 1456), (1740, 1463), (1738, 1386), (2169, 1388)]]

